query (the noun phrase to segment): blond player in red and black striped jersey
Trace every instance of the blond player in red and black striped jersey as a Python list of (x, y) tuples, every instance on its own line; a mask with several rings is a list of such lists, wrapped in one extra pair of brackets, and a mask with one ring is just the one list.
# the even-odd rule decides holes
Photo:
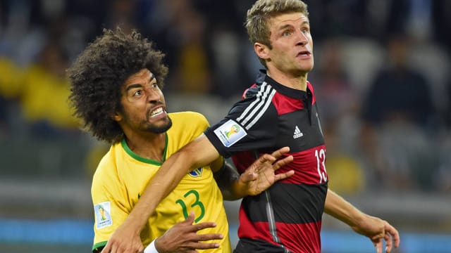
[(384, 240), (385, 252), (398, 247), (399, 233), (390, 223), (360, 212), (328, 189), (326, 145), (314, 85), (307, 81), (314, 66), (307, 6), (299, 0), (256, 1), (247, 12), (246, 27), (266, 70), (221, 122), (163, 163), (128, 220), (110, 239), (109, 249), (123, 252), (117, 250), (121, 245), (137, 241), (132, 235), (186, 171), (221, 155), (240, 155), (242, 166), (285, 145), (294, 160), (282, 170), (294, 169), (295, 176), (242, 200), (235, 252), (321, 252), (323, 212), (366, 235), (377, 252), (382, 252)]

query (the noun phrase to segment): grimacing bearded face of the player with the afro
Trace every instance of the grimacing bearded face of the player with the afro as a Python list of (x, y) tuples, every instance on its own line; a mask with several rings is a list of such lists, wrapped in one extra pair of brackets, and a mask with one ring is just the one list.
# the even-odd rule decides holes
[(132, 74), (121, 88), (122, 112), (114, 117), (124, 129), (161, 134), (172, 126), (154, 74), (147, 69)]

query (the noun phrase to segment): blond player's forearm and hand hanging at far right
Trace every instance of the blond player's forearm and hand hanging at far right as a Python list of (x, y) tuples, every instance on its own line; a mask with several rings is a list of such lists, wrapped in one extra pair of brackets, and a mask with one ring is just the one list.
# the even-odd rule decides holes
[(357, 233), (368, 237), (378, 253), (382, 253), (383, 240), (386, 243), (385, 252), (391, 252), (393, 246), (400, 245), (400, 235), (390, 223), (364, 214), (332, 190), (327, 192), (324, 212), (347, 223)]

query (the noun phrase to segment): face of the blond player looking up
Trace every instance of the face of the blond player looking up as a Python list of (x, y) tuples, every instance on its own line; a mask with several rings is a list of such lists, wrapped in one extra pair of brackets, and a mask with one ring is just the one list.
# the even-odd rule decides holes
[(309, 19), (302, 13), (281, 14), (271, 18), (269, 25), (273, 48), (268, 68), (293, 76), (307, 74), (314, 66)]

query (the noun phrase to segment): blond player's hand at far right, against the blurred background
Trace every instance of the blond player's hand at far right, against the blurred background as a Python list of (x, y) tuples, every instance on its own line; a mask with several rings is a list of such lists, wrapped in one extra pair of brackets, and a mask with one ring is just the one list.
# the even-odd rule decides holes
[(382, 253), (383, 240), (385, 240), (385, 253), (392, 251), (393, 246), (400, 246), (400, 234), (396, 228), (387, 221), (368, 214), (364, 214), (364, 219), (359, 222), (359, 226), (351, 226), (354, 231), (365, 235), (376, 247), (377, 253)]

